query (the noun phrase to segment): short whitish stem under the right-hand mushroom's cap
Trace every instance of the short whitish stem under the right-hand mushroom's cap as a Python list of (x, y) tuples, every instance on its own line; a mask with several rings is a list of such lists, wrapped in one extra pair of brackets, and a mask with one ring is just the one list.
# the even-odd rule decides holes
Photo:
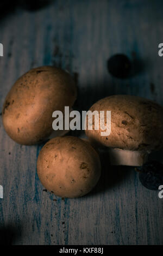
[(142, 166), (147, 161), (149, 153), (149, 151), (109, 148), (109, 158), (112, 165)]

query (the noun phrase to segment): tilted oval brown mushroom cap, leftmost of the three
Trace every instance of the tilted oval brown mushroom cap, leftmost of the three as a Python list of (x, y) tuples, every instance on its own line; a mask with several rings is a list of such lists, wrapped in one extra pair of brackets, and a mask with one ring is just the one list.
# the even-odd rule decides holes
[(52, 132), (52, 113), (72, 106), (77, 90), (64, 70), (44, 66), (29, 70), (9, 91), (2, 111), (11, 139), (24, 145), (45, 140)]

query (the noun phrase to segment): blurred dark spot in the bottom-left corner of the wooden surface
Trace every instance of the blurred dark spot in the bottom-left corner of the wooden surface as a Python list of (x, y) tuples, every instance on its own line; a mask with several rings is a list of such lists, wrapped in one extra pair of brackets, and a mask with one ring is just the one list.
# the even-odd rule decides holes
[(9, 223), (0, 225), (0, 245), (13, 245), (21, 236), (20, 227)]

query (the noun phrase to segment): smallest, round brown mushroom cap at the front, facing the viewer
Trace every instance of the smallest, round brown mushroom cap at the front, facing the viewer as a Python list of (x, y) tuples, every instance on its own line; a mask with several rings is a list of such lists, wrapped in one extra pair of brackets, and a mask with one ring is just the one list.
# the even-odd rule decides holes
[(37, 159), (43, 186), (59, 197), (82, 197), (101, 175), (99, 156), (89, 142), (73, 136), (49, 140)]

